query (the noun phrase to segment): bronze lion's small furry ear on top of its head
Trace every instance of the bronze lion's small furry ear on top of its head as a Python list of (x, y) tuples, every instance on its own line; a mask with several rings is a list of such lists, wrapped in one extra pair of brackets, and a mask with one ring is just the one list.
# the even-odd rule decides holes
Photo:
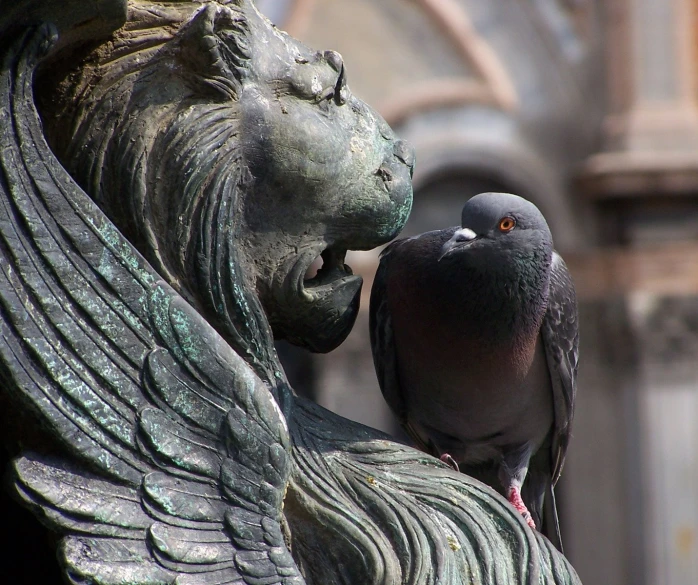
[(194, 79), (220, 97), (237, 99), (249, 59), (249, 29), (236, 3), (204, 5), (175, 42), (178, 60)]

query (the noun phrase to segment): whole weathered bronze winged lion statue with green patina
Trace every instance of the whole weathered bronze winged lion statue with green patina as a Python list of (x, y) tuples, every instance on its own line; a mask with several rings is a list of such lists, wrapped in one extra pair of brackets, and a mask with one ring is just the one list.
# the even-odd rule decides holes
[(273, 338), (341, 343), (345, 251), (411, 204), (339, 55), (249, 0), (7, 4), (0, 376), (67, 579), (579, 583), (492, 489), (286, 382)]

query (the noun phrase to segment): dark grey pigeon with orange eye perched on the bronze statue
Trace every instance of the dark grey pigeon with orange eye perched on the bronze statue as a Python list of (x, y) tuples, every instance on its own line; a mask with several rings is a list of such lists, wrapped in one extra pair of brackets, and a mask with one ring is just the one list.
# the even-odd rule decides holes
[(538, 208), (469, 199), (461, 227), (396, 240), (371, 290), (373, 360), (418, 448), (487, 483), (562, 551), (553, 487), (574, 414), (574, 285)]

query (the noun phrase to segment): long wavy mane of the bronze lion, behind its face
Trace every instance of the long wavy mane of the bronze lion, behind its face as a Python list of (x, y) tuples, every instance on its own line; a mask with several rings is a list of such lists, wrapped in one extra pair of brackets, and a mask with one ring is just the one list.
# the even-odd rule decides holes
[[(73, 177), (271, 381), (280, 376), (272, 333), (235, 247), (251, 180), (237, 107), (249, 30), (234, 3), (223, 14), (213, 2), (131, 2), (109, 43), (70, 70), (47, 67), (37, 85), (59, 87), (40, 107)], [(211, 50), (214, 33), (229, 42)]]

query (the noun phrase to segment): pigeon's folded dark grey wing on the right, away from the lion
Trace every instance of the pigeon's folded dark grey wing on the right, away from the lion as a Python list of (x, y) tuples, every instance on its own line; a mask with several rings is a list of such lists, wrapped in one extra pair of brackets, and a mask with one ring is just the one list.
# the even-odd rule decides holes
[(577, 297), (567, 266), (556, 252), (553, 253), (548, 310), (541, 333), (553, 386), (552, 483), (555, 485), (570, 439), (579, 358)]

